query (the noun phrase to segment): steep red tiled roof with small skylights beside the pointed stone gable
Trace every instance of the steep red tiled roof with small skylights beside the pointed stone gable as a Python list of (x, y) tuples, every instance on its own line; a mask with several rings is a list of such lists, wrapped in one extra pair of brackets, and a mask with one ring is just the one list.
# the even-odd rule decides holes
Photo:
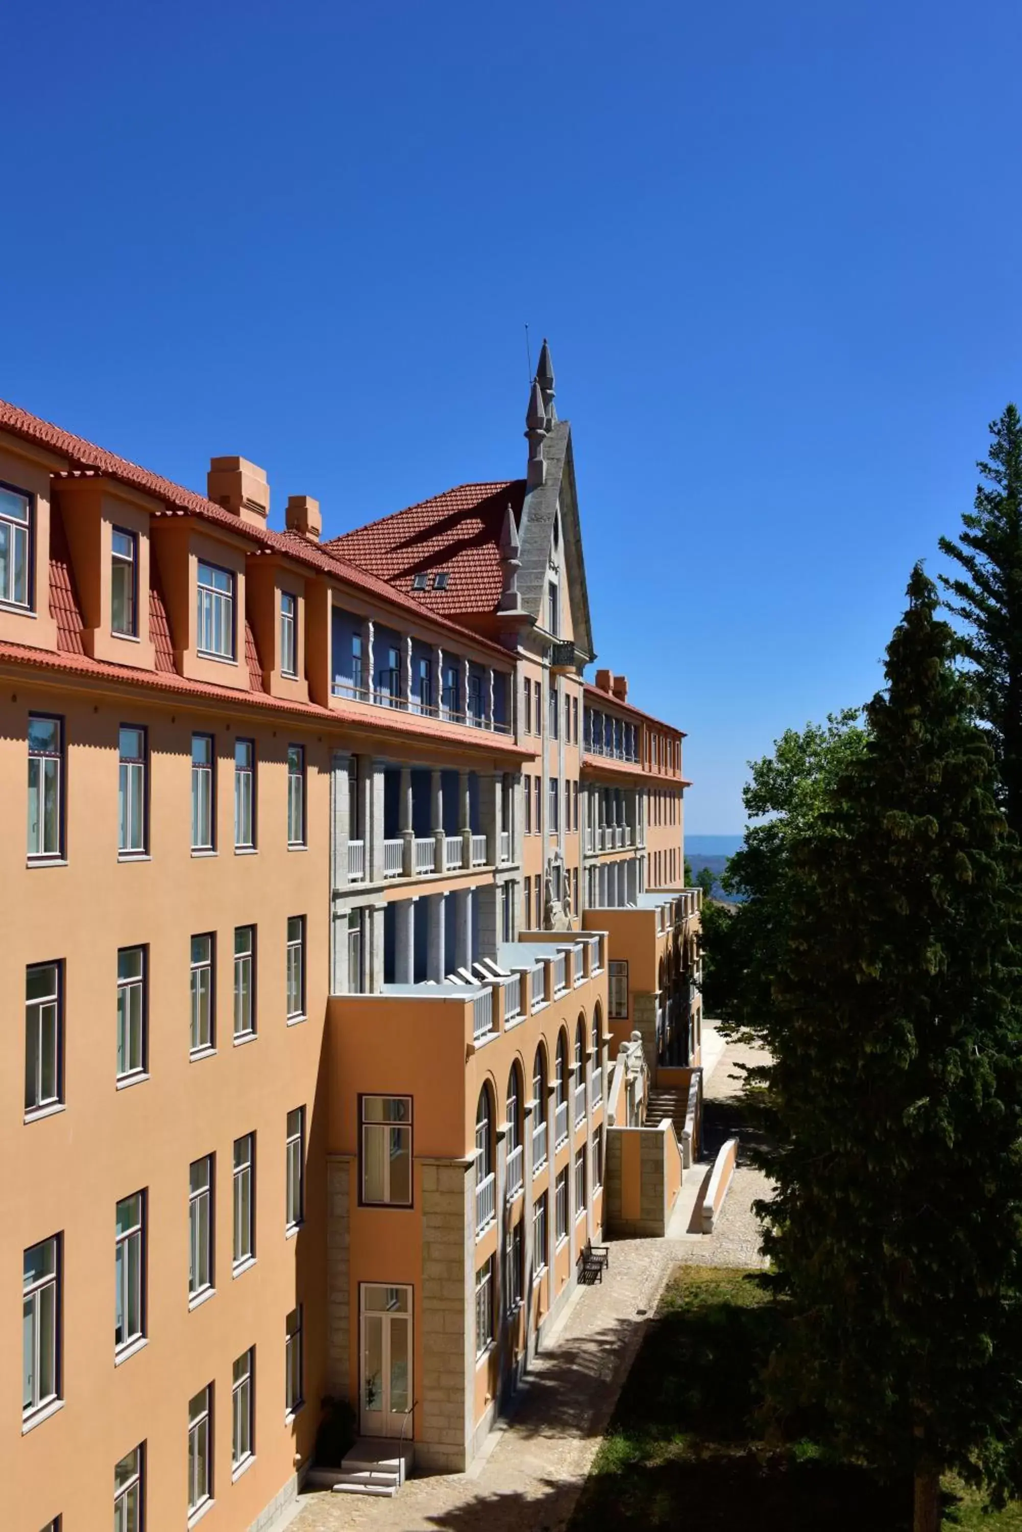
[[(504, 516), (509, 504), (521, 516), (524, 493), (524, 480), (458, 484), (323, 547), (441, 616), (495, 611), (504, 584)], [(437, 570), (447, 571), (446, 590), (434, 590)], [(412, 590), (418, 573), (429, 574), (423, 591)]]

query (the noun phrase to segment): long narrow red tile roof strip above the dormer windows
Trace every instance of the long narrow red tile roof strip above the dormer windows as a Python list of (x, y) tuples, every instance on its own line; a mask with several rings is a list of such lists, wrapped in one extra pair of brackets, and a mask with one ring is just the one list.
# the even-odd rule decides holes
[[(97, 447), (83, 437), (74, 437), (69, 430), (61, 430), (60, 426), (54, 426), (47, 420), (40, 420), (38, 415), (31, 415), (18, 404), (0, 400), (0, 429), (67, 458), (72, 469), (104, 473), (123, 484), (133, 484), (135, 489), (164, 501), (169, 512), (199, 516), (202, 521), (227, 527), (236, 536), (247, 538), (253, 544), (253, 552), (285, 553), (299, 564), (308, 564), (325, 574), (332, 574), (337, 581), (355, 585), (368, 594), (386, 599), (394, 605), (420, 613), (423, 610), (421, 602), (412, 601), (398, 587), (389, 585), (368, 570), (348, 562), (346, 556), (328, 552), (326, 544), (320, 547), (293, 532), (271, 532), (270, 529), (260, 530), (251, 527), (204, 495), (196, 495), (195, 490), (184, 489), (181, 484), (161, 478), (158, 473), (150, 473), (149, 469), (142, 469), (127, 458), (120, 458), (104, 447)], [(507, 659), (507, 651), (501, 650), (500, 645), (470, 633), (467, 628), (458, 627), (458, 624), (452, 622), (440, 610), (432, 607), (427, 607), (427, 610), (431, 611), (431, 620), (435, 620), (440, 627), (460, 633), (463, 639), (470, 640), (477, 648), (481, 647)]]

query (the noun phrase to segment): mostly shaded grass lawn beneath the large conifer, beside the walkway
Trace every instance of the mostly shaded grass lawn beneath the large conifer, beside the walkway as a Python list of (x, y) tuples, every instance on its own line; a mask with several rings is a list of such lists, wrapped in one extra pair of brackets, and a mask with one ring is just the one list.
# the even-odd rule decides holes
[[(812, 1442), (754, 1435), (757, 1367), (777, 1333), (746, 1272), (679, 1267), (628, 1374), (570, 1532), (907, 1532), (910, 1485), (878, 1485)], [(945, 1526), (1022, 1532), (1022, 1506), (988, 1515), (948, 1483)]]

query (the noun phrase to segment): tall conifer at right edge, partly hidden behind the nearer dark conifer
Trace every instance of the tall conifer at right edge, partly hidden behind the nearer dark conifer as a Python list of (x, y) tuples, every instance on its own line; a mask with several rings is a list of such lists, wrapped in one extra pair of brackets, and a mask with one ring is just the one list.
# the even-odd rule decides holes
[(941, 576), (941, 584), (953, 597), (948, 610), (965, 624), (959, 650), (976, 668), (1001, 800), (1008, 824), (1022, 836), (1022, 420), (1014, 404), (991, 421), (990, 434), (990, 458), (978, 464), (985, 483), (975, 509), (962, 516), (958, 541), (941, 538), (941, 552), (962, 573)]

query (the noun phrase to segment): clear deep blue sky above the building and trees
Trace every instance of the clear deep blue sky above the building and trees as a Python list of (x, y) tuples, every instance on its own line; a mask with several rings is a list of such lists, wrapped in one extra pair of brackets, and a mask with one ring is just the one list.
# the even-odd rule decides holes
[(17, 6), (0, 395), (328, 533), (573, 421), (601, 663), (693, 832), (867, 697), (1022, 392), (1008, 0)]

